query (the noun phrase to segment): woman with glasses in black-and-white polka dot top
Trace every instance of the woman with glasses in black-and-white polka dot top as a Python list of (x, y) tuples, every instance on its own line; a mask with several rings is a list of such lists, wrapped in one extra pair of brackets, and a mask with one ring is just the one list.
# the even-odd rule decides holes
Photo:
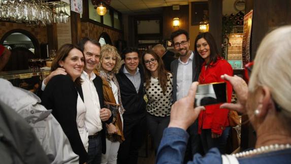
[(153, 51), (142, 56), (145, 70), (145, 92), (147, 95), (147, 125), (157, 150), (164, 129), (170, 121), (172, 106), (172, 74), (165, 70), (163, 60)]

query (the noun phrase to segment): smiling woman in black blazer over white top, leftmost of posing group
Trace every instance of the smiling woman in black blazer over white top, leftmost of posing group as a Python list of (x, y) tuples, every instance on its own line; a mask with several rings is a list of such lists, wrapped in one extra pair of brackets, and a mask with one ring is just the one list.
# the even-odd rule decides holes
[[(87, 161), (88, 132), (84, 124), (86, 109), (76, 87), (81, 85), (84, 54), (72, 44), (63, 45), (52, 62), (51, 71), (64, 68), (67, 75), (56, 75), (42, 93), (42, 104), (52, 114), (67, 135), (80, 163)], [(87, 136), (86, 136), (87, 135)]]

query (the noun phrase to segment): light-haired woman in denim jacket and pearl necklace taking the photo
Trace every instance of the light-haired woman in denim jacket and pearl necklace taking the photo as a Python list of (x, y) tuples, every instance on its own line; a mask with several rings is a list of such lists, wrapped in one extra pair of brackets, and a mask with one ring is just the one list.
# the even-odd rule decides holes
[[(255, 149), (221, 155), (212, 148), (188, 163), (290, 163), (291, 161), (291, 26), (270, 32), (256, 52), (249, 86), (239, 77), (223, 75), (236, 91), (239, 104), (221, 108), (248, 115), (256, 131)], [(250, 69), (249, 69), (250, 70)], [(171, 121), (159, 146), (157, 163), (182, 163), (188, 139), (185, 129), (204, 107), (193, 108), (197, 82), (172, 106)]]

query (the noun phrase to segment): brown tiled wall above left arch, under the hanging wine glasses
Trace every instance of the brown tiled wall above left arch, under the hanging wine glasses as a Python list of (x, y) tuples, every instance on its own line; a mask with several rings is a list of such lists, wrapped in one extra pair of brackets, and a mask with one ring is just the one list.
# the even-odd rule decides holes
[(26, 26), (23, 23), (13, 23), (13, 22), (0, 22), (0, 38), (2, 38), (6, 32), (12, 29), (24, 29), (30, 32), (32, 35), (36, 37), (41, 43), (47, 43), (47, 28), (39, 27), (39, 26)]

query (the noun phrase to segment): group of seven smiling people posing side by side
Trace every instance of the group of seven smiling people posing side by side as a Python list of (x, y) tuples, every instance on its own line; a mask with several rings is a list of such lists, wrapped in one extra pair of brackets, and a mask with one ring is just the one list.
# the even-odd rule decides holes
[[(101, 47), (89, 38), (59, 48), (37, 94), (52, 109), (80, 163), (137, 163), (147, 129), (157, 152), (171, 106), (188, 94), (192, 82), (221, 82), (221, 75), (233, 75), (209, 32), (197, 36), (194, 51), (185, 30), (174, 31), (171, 39), (177, 59), (162, 45), (141, 56), (136, 48), (119, 55), (114, 46)], [(225, 82), (230, 101), (232, 86)], [(229, 110), (206, 108), (187, 130), (190, 156), (212, 147), (225, 151)]]

